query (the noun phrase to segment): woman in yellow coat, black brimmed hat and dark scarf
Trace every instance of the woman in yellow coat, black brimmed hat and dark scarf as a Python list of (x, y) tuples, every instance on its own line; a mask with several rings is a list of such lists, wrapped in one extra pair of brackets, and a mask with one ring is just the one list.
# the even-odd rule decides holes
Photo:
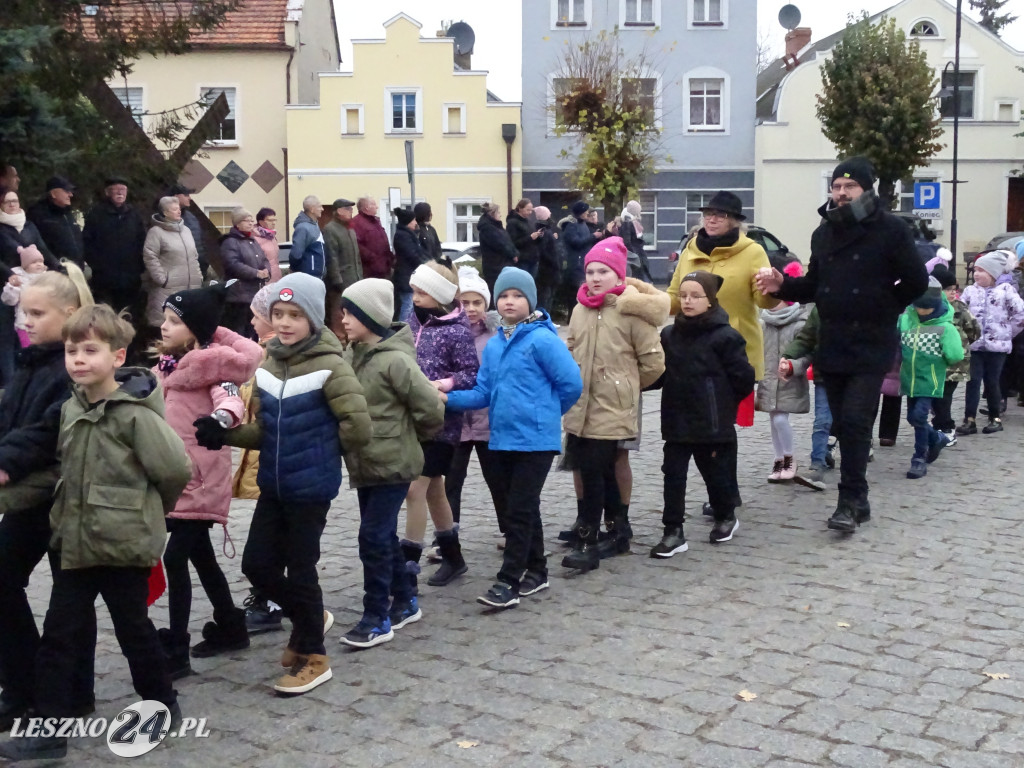
[(754, 278), (761, 267), (770, 266), (764, 249), (739, 229), (743, 204), (729, 191), (720, 191), (700, 209), (703, 226), (690, 238), (679, 254), (679, 264), (669, 285), (672, 313), (679, 313), (679, 284), (684, 274), (706, 271), (725, 281), (718, 301), (729, 314), (732, 326), (746, 342), (746, 359), (754, 366), (758, 381), (765, 376), (764, 337), (760, 309), (771, 309), (778, 299), (762, 294)]

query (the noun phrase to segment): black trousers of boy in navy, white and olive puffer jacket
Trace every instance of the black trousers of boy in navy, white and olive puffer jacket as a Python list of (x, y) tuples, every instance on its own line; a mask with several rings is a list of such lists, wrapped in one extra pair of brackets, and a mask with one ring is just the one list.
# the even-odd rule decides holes
[(324, 593), (316, 563), (330, 506), (330, 502), (286, 504), (262, 493), (242, 553), (242, 572), (292, 620), (288, 645), (302, 655), (325, 652)]

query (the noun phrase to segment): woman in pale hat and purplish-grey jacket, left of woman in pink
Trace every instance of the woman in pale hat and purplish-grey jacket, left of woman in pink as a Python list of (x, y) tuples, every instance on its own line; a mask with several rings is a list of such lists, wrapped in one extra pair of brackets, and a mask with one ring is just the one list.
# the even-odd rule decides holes
[(220, 241), (224, 280), (237, 281), (227, 287), (220, 325), (240, 336), (258, 341), (252, 327), (253, 296), (270, 280), (270, 261), (256, 240), (256, 217), (244, 208), (231, 212), (234, 225)]

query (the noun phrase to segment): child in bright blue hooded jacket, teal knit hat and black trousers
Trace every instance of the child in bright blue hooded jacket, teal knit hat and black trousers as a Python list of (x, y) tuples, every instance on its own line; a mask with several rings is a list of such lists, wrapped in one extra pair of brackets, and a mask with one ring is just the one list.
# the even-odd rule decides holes
[(562, 416), (580, 398), (583, 379), (548, 313), (537, 309), (529, 272), (505, 267), (495, 282), (498, 334), (483, 348), (476, 386), (441, 398), (452, 411), (489, 408), (490, 440), (505, 499), (505, 556), (498, 582), (477, 602), (510, 608), (520, 595), (548, 588), (541, 489), (561, 451)]

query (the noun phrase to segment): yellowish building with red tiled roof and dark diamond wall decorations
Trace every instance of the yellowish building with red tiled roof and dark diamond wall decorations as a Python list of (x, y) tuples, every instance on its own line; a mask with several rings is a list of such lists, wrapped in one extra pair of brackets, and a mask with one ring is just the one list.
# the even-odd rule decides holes
[[(287, 209), (285, 106), (315, 101), (317, 75), (339, 62), (330, 0), (249, 0), (219, 28), (198, 35), (187, 53), (141, 58), (127, 79), (110, 86), (145, 129), (162, 111), (223, 92), (230, 113), (218, 137), (179, 180), (222, 231), (239, 206), (253, 213), (272, 208), (287, 229), (294, 211)], [(288, 238), (283, 232), (280, 240)]]

